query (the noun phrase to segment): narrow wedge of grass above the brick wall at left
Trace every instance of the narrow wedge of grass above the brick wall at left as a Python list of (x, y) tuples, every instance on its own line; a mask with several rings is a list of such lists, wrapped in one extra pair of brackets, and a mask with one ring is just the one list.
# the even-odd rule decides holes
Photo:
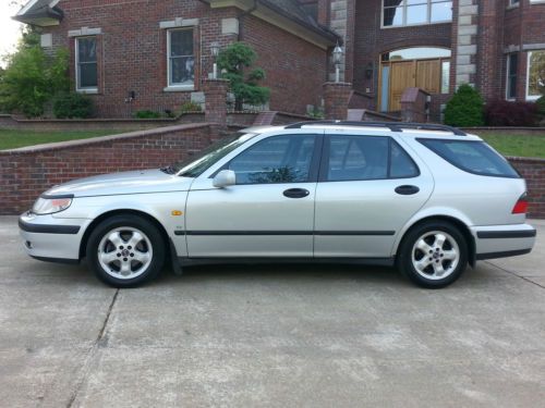
[[(128, 132), (128, 131), (125, 131)], [(120, 133), (119, 131), (82, 131), (82, 132), (33, 132), (0, 129), (0, 150), (17, 147), (88, 139), (96, 136), (107, 136)]]

